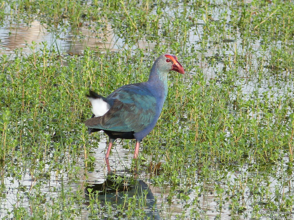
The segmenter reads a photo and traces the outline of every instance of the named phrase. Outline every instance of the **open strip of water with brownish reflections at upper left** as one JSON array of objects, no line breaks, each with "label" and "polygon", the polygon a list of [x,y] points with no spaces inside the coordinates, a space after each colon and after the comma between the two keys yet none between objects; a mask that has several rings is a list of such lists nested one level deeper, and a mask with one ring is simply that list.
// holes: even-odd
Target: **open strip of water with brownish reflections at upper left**
[{"label": "open strip of water with brownish reflections at upper left", "polygon": [[1,53],[13,54],[13,50],[20,49],[28,54],[39,50],[46,41],[49,49],[57,47],[60,53],[82,54],[86,47],[92,50],[117,51],[123,46],[122,40],[117,38],[111,26],[106,24],[106,31],[92,31],[90,26],[81,26],[77,29],[68,28],[64,32],[49,31],[46,24],[34,20],[29,25],[14,24],[0,27]]}]

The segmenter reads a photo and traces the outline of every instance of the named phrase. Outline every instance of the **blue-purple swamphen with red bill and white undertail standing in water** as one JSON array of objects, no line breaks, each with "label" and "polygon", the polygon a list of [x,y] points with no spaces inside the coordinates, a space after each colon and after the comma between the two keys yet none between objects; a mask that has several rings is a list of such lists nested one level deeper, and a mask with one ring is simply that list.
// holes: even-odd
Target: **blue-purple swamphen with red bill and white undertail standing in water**
[{"label": "blue-purple swamphen with red bill and white undertail standing in water", "polygon": [[109,136],[106,163],[117,138],[136,139],[134,158],[138,157],[140,142],[152,131],[161,113],[171,70],[185,73],[175,55],[163,54],[154,62],[147,82],[124,85],[106,98],[90,92],[93,116],[85,125],[89,133],[103,130]]}]

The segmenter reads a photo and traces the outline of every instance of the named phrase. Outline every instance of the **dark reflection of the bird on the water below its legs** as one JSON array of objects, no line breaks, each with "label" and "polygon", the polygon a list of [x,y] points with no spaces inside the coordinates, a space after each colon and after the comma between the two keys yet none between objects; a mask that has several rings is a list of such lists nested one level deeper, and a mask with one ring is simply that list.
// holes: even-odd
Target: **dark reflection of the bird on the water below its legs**
[{"label": "dark reflection of the bird on the water below its legs", "polygon": [[[107,218],[130,219],[136,214],[142,214],[144,219],[161,219],[156,207],[156,201],[149,186],[143,180],[130,175],[117,175],[109,172],[106,180],[102,183],[88,183],[84,189],[86,205],[90,199],[98,199],[100,207],[111,207],[114,211]],[[138,213],[128,212],[129,206],[136,206]],[[140,215],[141,216],[141,215]]]}]

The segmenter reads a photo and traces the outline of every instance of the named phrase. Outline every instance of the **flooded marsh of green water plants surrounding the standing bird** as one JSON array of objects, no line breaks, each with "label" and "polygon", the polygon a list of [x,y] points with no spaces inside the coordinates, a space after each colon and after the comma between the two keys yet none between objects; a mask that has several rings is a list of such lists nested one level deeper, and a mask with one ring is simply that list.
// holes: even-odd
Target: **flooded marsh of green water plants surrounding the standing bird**
[{"label": "flooded marsh of green water plants surrounding the standing bird", "polygon": [[[29,41],[35,23],[47,41]],[[85,191],[109,178],[86,93],[147,80],[165,52],[187,74],[169,75],[138,164],[117,141],[112,169],[150,184],[161,219],[293,213],[293,2],[4,0],[0,24],[0,219],[144,219],[143,192]]]}]

